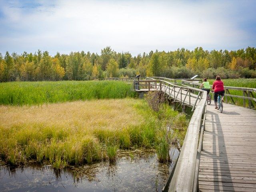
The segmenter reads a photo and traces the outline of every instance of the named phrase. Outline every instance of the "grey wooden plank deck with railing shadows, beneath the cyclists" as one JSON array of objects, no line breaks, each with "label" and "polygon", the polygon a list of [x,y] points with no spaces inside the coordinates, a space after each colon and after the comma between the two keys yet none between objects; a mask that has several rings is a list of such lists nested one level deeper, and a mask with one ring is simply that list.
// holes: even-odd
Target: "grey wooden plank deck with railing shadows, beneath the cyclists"
[{"label": "grey wooden plank deck with railing shadows, beneath the cyclists", "polygon": [[256,110],[207,106],[199,191],[256,192]]}]

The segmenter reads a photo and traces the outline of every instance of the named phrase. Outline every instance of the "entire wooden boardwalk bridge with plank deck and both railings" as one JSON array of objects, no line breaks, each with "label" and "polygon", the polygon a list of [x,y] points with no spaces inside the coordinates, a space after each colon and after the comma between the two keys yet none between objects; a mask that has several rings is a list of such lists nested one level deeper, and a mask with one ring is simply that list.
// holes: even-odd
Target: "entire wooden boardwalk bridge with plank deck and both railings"
[{"label": "entire wooden boardwalk bridge with plank deck and both railings", "polygon": [[[256,192],[256,89],[224,87],[227,96],[241,98],[244,107],[224,103],[223,112],[206,106],[206,91],[191,80],[167,78],[133,79],[138,92],[161,91],[172,102],[194,111],[175,169],[163,189],[169,192]],[[193,87],[192,87],[193,86]],[[243,96],[229,90],[240,90]],[[248,100],[248,107],[246,100]]]}]

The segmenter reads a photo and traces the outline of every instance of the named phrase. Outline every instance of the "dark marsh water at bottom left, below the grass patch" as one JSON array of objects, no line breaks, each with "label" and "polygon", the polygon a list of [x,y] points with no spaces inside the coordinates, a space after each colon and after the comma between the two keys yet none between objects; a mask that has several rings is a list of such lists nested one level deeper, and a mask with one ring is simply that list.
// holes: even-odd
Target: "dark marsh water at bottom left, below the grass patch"
[{"label": "dark marsh water at bottom left, below the grass patch", "polygon": [[11,192],[141,192],[161,191],[179,151],[172,149],[172,162],[158,163],[153,151],[119,151],[116,162],[102,161],[54,171],[52,166],[0,167],[0,191]]}]

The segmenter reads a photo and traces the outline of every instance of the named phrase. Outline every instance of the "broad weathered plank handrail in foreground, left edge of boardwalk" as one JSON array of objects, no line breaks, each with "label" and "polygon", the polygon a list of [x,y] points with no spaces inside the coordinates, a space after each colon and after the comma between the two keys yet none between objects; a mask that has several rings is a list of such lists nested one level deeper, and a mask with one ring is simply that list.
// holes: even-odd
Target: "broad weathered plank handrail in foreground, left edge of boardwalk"
[{"label": "broad weathered plank handrail in foreground, left edge of boardwalk", "polygon": [[[199,91],[199,90],[198,90]],[[194,180],[198,180],[199,164],[196,164],[198,156],[199,132],[202,127],[201,120],[205,113],[207,92],[203,92],[188,125],[186,136],[182,145],[179,160],[170,183],[169,191],[194,191]]]}]

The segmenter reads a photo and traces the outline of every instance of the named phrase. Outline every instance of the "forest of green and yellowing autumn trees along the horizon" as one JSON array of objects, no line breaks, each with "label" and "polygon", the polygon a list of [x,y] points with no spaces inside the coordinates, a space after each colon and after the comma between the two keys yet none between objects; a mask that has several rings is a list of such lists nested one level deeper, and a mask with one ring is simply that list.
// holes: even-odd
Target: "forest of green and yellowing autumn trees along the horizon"
[{"label": "forest of green and yellowing autumn trees along the horizon", "polygon": [[256,78],[256,48],[239,50],[175,51],[132,56],[129,52],[115,52],[110,46],[100,54],[70,52],[51,56],[48,51],[34,54],[23,52],[0,53],[0,82],[95,80],[106,77],[161,76],[167,78]]}]

